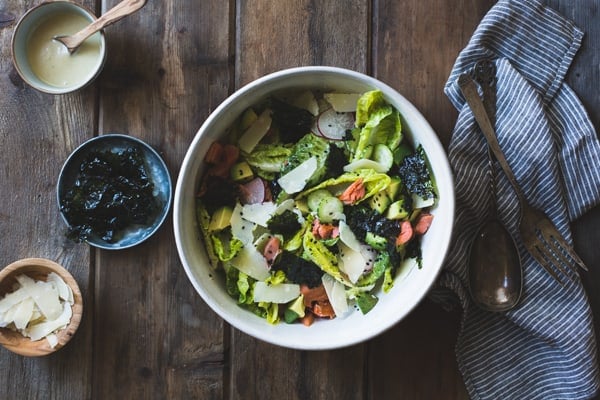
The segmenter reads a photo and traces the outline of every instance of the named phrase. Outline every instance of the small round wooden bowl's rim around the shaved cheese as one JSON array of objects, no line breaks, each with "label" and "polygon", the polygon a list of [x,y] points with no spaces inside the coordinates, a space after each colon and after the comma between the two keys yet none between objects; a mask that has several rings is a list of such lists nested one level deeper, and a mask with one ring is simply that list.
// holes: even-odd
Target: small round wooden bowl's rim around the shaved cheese
[{"label": "small round wooden bowl's rim around the shaved cheese", "polygon": [[[79,325],[81,323],[82,315],[83,315],[83,296],[81,294],[81,289],[79,288],[79,284],[77,280],[73,277],[73,275],[67,270],[64,266],[54,262],[52,260],[46,258],[39,257],[30,257],[23,258],[17,261],[10,263],[0,270],[0,282],[3,282],[5,279],[16,276],[19,273],[23,273],[28,275],[27,272],[23,272],[23,269],[27,269],[28,267],[41,267],[50,272],[54,272],[59,275],[63,281],[71,288],[73,292],[73,304],[71,305],[72,316],[69,324],[57,332],[58,343],[55,347],[50,347],[46,340],[40,339],[37,341],[31,341],[31,339],[22,336],[19,332],[11,331],[8,328],[0,328],[0,343],[4,348],[10,350],[13,353],[27,356],[27,357],[40,357],[52,354],[69,343],[71,338],[75,335],[75,332],[78,330]],[[48,275],[44,273],[44,275]],[[29,276],[29,275],[28,275]],[[4,296],[6,293],[2,293]],[[11,338],[18,338],[16,341]],[[25,341],[28,345],[21,346],[21,344]]]}]

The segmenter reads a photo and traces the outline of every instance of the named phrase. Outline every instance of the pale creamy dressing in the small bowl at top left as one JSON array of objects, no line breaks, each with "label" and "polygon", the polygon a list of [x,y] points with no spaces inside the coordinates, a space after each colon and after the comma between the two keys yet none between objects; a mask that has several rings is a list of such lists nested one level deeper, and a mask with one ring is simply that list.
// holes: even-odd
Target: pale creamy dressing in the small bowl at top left
[{"label": "pale creamy dressing in the small bowl at top left", "polygon": [[78,32],[90,21],[74,13],[56,13],[43,20],[27,41],[27,58],[33,73],[56,87],[69,87],[87,81],[102,57],[100,34],[95,33],[73,54],[52,38]]}]

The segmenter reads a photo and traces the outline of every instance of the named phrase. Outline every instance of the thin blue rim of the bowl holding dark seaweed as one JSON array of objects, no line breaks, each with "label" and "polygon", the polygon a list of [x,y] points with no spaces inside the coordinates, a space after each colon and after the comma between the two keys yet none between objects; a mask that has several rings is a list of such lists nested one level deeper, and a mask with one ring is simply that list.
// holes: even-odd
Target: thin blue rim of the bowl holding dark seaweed
[{"label": "thin blue rim of the bowl holding dark seaweed", "polygon": [[[75,162],[76,158],[78,156],[80,156],[82,153],[84,153],[85,151],[87,151],[88,148],[90,148],[93,145],[97,145],[99,142],[110,141],[110,140],[121,140],[124,142],[132,142],[134,144],[141,146],[144,151],[150,153],[156,159],[158,167],[161,169],[161,171],[164,173],[163,175],[166,177],[166,182],[163,185],[164,193],[166,194],[165,203],[164,203],[161,211],[156,215],[156,218],[154,219],[153,224],[152,224],[152,229],[146,231],[144,233],[144,235],[142,235],[140,237],[139,240],[130,242],[127,244],[120,244],[122,242],[122,239],[115,243],[112,243],[112,244],[105,242],[100,238],[98,238],[98,241],[85,240],[85,242],[87,244],[89,244],[90,246],[93,246],[93,247],[96,247],[99,249],[123,250],[123,249],[128,249],[128,248],[137,246],[137,245],[145,242],[146,240],[148,240],[151,236],[153,236],[160,229],[160,227],[163,225],[163,223],[167,219],[167,216],[171,209],[171,204],[173,202],[173,182],[172,182],[171,174],[169,172],[167,164],[165,163],[163,158],[160,156],[160,154],[148,143],[144,142],[143,140],[141,140],[139,138],[136,138],[134,136],[130,136],[127,134],[123,134],[123,133],[106,133],[106,134],[94,136],[93,138],[90,138],[90,139],[86,140],[85,142],[81,143],[79,146],[77,146],[77,148],[75,148],[75,150],[73,150],[71,152],[71,154],[69,154],[69,156],[67,157],[67,159],[65,160],[65,162],[63,163],[63,165],[60,169],[60,172],[58,175],[58,180],[56,183],[56,201],[57,201],[57,205],[58,205],[59,214],[60,214],[63,222],[67,226],[69,226],[70,225],[69,221],[67,220],[64,213],[60,210],[61,188],[63,186],[63,179],[66,176],[67,169],[69,167],[71,167],[71,164],[73,162]],[[152,175],[152,174],[150,174],[150,175]]]}]

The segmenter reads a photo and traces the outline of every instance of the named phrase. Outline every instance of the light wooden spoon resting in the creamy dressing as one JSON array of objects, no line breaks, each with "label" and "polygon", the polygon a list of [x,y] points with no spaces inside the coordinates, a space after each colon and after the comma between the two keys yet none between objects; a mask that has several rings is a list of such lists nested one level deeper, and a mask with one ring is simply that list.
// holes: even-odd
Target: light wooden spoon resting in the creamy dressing
[{"label": "light wooden spoon resting in the creamy dressing", "polygon": [[133,14],[144,7],[147,1],[148,0],[124,0],[79,32],[73,35],[55,36],[53,39],[64,44],[69,50],[69,53],[73,54],[88,37],[104,27],[117,22],[121,18]]}]

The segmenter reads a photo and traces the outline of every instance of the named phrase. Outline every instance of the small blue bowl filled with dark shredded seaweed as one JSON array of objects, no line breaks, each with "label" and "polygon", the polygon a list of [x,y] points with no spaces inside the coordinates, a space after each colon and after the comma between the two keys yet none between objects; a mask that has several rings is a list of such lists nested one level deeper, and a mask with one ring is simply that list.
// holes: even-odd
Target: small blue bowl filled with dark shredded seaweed
[{"label": "small blue bowl filled with dark shredded seaweed", "polygon": [[164,220],[171,198],[162,159],[126,135],[103,135],[67,160],[58,184],[67,237],[107,249],[138,244]]}]

